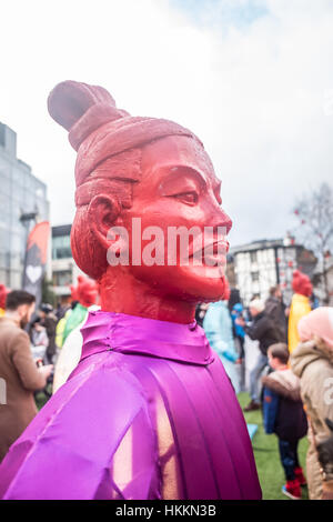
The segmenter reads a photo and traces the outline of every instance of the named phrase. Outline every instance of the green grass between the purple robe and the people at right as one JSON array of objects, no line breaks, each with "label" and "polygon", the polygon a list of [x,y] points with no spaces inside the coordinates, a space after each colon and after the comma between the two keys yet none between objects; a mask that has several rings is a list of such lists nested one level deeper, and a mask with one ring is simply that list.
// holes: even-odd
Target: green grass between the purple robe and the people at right
[{"label": "green grass between the purple robe and the people at right", "polygon": [[[238,398],[242,408],[250,402],[248,393],[239,393]],[[265,434],[261,410],[244,412],[244,416],[249,424],[258,424],[258,431],[252,439],[252,445],[263,500],[290,500],[281,492],[285,479],[280,462],[276,435]],[[299,444],[299,459],[304,472],[306,451],[307,439],[305,436]],[[306,488],[302,488],[302,499],[307,499]]]}]

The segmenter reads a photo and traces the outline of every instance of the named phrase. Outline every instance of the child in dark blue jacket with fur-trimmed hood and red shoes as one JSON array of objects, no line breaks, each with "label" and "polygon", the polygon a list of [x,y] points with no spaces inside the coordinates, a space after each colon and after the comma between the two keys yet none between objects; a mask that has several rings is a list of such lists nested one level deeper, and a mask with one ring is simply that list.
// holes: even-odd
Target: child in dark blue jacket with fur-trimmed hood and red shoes
[{"label": "child in dark blue jacket with fur-trimmed hood and red shoes", "polygon": [[299,500],[302,498],[301,485],[305,485],[306,480],[299,462],[297,445],[307,432],[300,380],[287,368],[286,344],[272,344],[268,357],[274,371],[262,378],[264,428],[268,434],[275,433],[279,439],[280,459],[286,479],[282,493]]}]

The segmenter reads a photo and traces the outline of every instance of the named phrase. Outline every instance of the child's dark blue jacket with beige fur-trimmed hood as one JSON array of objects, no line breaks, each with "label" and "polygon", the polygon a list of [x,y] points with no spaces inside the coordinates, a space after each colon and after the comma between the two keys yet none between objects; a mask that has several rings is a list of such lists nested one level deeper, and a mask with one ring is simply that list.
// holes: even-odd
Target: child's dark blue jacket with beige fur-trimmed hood
[{"label": "child's dark blue jacket with beige fur-trimmed hood", "polygon": [[296,375],[291,370],[275,371],[264,377],[262,384],[265,432],[275,433],[283,441],[305,436],[307,420]]}]

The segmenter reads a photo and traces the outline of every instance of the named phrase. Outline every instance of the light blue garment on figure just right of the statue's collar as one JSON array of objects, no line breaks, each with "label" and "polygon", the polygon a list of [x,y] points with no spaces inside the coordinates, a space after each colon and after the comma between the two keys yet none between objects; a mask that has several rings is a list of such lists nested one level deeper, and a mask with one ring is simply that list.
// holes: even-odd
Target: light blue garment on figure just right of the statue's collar
[{"label": "light blue garment on figure just right of the statue's collar", "polygon": [[239,393],[240,383],[235,368],[239,354],[234,347],[228,301],[218,301],[210,304],[203,320],[203,329],[211,348],[220,357],[235,393]]}]

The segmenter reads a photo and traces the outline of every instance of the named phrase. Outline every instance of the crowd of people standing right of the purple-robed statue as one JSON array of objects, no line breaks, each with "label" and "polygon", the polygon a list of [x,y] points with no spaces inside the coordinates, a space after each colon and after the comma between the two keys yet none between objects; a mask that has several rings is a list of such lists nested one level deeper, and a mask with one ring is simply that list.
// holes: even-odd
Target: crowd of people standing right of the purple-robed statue
[{"label": "crowd of people standing right of the purple-robed statue", "polygon": [[[231,291],[224,301],[200,304],[196,320],[235,392],[249,392],[244,411],[261,410],[265,432],[278,436],[286,481],[282,492],[301,499],[301,488],[307,485],[310,499],[332,499],[333,308],[319,307],[310,279],[299,271],[293,290],[289,307],[275,285],[266,301],[253,295],[246,308],[239,292]],[[299,441],[306,434],[307,479],[297,455]]]}]

